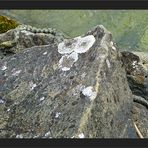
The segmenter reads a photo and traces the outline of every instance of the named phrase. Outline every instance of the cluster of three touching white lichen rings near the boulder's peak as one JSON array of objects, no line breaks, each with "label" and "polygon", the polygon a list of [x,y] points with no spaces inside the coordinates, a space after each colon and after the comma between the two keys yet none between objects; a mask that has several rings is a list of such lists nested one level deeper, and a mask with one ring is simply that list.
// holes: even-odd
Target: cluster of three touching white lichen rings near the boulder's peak
[{"label": "cluster of three touching white lichen rings near the boulder's peak", "polygon": [[76,37],[67,39],[58,45],[58,52],[64,54],[59,60],[59,68],[63,71],[68,71],[78,60],[78,53],[87,52],[95,43],[95,37],[88,35],[85,37]]}]

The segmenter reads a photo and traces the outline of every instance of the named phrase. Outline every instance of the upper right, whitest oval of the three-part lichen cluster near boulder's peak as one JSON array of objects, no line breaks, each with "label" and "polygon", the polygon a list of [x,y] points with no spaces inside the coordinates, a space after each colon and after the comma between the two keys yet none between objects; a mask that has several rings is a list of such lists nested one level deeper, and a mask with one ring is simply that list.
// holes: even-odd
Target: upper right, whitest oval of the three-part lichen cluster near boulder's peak
[{"label": "upper right, whitest oval of the three-part lichen cluster near boulder's peak", "polygon": [[93,46],[95,41],[96,39],[93,35],[88,35],[82,38],[79,37],[74,51],[76,53],[85,53]]}]

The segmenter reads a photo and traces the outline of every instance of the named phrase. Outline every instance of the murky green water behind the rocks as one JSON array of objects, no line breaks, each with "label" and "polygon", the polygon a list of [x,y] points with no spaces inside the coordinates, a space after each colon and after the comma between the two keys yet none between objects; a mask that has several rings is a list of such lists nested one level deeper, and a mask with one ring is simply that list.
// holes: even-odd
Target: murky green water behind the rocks
[{"label": "murky green water behind the rocks", "polygon": [[[1,11],[2,12],[2,11]],[[148,10],[3,10],[36,27],[54,27],[71,37],[102,24],[122,50],[148,51]]]}]

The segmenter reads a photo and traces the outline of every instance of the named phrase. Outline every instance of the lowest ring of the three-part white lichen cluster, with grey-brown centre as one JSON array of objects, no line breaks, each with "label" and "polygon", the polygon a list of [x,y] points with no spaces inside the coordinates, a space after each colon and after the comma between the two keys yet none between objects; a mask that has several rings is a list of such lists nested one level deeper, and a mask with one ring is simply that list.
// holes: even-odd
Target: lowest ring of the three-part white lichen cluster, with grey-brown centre
[{"label": "lowest ring of the three-part white lichen cluster, with grey-brown centre", "polygon": [[59,60],[59,68],[61,68],[63,71],[68,71],[77,60],[78,54],[75,52],[69,55],[63,55],[62,58]]}]

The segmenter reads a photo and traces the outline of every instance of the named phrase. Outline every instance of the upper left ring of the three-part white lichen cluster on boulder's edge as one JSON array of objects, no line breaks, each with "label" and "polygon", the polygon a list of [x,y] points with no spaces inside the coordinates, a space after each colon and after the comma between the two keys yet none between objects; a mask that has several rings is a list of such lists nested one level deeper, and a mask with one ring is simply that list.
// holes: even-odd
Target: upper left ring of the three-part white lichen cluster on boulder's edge
[{"label": "upper left ring of the three-part white lichen cluster on boulder's edge", "polygon": [[66,39],[58,45],[58,52],[60,54],[67,54],[74,51],[77,39]]}]

